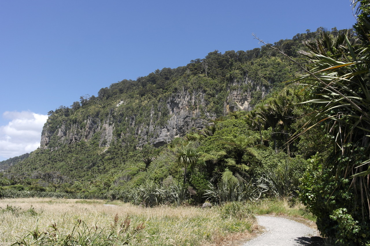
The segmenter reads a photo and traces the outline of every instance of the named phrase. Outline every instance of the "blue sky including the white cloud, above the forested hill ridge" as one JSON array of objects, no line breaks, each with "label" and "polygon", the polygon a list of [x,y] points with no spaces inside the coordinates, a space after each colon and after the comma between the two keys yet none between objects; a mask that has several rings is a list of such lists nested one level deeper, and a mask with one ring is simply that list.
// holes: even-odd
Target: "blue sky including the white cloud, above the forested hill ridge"
[{"label": "blue sky including the white cloud, above the forested hill ridge", "polygon": [[260,47],[252,33],[273,43],[355,21],[350,0],[0,1],[0,161],[37,147],[48,111],[111,83]]}]

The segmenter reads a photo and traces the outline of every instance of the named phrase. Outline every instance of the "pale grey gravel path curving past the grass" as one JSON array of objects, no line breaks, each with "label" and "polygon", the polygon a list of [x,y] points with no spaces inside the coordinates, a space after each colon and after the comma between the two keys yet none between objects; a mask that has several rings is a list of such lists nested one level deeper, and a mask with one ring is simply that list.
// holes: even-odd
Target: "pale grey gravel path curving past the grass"
[{"label": "pale grey gravel path curving past the grass", "polygon": [[308,246],[311,237],[317,236],[317,232],[299,222],[290,219],[256,216],[258,225],[265,227],[262,235],[242,246]]}]

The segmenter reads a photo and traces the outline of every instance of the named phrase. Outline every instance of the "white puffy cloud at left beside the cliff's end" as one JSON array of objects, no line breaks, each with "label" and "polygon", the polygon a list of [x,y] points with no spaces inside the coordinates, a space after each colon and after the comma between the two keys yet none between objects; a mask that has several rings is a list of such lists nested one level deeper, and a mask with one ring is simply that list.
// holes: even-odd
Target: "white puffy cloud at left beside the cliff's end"
[{"label": "white puffy cloud at left beside the cliff's end", "polygon": [[29,111],[4,112],[9,119],[6,126],[0,126],[0,160],[30,153],[40,147],[41,131],[48,118]]}]

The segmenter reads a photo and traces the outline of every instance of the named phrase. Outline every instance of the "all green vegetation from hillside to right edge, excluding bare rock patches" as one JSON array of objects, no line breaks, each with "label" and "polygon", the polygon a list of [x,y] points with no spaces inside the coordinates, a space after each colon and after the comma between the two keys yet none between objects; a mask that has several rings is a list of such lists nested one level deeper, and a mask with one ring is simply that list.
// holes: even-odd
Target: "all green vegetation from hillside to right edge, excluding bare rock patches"
[{"label": "all green vegetation from hillside to right edge, excluding bare rock patches", "polygon": [[[299,196],[324,236],[370,245],[369,4],[353,2],[355,31],[318,28],[250,51],[214,51],[62,106],[50,112],[47,147],[1,173],[1,185],[143,206]],[[250,93],[249,111],[225,114],[233,88]],[[209,124],[159,148],[145,144],[137,126],[153,118],[165,126],[166,100],[179,90],[194,95],[189,106]],[[58,139],[62,125],[78,132],[87,121],[114,124],[113,140],[98,131],[87,141]]]}]

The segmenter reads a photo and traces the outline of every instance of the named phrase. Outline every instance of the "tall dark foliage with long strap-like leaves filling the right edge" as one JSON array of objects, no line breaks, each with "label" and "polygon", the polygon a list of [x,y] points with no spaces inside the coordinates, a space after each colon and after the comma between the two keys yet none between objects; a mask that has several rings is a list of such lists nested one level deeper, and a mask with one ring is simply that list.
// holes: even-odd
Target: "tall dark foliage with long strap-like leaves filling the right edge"
[{"label": "tall dark foliage with long strap-like leaves filling the right edge", "polygon": [[301,198],[324,235],[342,245],[369,245],[370,1],[353,3],[358,37],[323,30],[305,42],[311,69],[294,80],[313,88],[304,102],[314,109],[305,131],[321,124],[331,136],[331,151],[303,178]]}]

